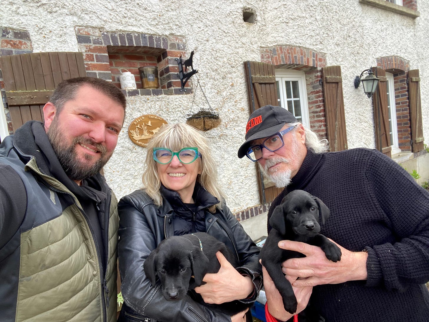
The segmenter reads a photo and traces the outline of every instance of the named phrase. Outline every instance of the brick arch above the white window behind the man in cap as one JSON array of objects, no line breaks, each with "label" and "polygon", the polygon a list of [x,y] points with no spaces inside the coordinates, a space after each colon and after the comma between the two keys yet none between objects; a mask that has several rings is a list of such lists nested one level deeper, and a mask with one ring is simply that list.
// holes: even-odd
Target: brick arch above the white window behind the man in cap
[{"label": "brick arch above the white window behind the man in cap", "polygon": [[278,67],[286,64],[296,65],[298,68],[293,69],[300,70],[303,70],[305,67],[326,67],[326,54],[305,47],[287,45],[262,47],[260,54],[263,63],[273,64]]}]

